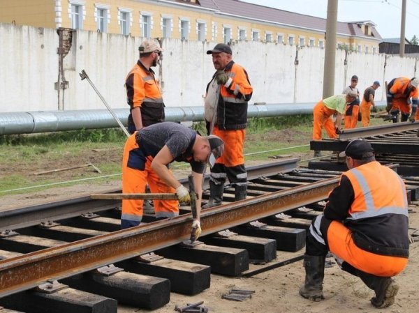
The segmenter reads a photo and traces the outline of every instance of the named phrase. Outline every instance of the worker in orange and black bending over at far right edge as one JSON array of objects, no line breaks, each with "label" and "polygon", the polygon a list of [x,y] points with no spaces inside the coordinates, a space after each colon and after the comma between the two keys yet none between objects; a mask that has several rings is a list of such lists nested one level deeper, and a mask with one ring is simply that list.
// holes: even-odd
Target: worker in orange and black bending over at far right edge
[{"label": "worker in orange and black bending over at far right edge", "polygon": [[387,112],[397,121],[399,112],[400,121],[419,120],[419,79],[416,77],[399,77],[392,79],[387,86]]}]

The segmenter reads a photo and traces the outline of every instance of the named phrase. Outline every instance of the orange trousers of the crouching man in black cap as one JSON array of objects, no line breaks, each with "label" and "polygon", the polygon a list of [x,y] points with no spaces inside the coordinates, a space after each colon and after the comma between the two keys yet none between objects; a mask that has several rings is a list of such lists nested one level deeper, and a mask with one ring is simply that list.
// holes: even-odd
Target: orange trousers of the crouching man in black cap
[{"label": "orange trousers of the crouching man in black cap", "polygon": [[358,270],[376,276],[395,276],[404,270],[408,262],[404,257],[374,254],[360,249],[353,242],[351,230],[337,221],[333,221],[328,228],[328,245],[330,252],[339,259]]}]

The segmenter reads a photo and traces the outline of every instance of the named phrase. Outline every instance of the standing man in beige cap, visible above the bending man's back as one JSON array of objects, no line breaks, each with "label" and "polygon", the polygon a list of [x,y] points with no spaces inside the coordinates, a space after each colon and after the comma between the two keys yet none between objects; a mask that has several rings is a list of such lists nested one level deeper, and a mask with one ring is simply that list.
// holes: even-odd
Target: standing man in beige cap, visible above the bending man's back
[{"label": "standing man in beige cap, visible above the bending man's back", "polygon": [[144,40],[140,47],[140,59],[128,73],[125,80],[126,101],[130,107],[128,131],[164,121],[164,103],[159,81],[152,70],[160,60],[161,49],[158,42]]}]

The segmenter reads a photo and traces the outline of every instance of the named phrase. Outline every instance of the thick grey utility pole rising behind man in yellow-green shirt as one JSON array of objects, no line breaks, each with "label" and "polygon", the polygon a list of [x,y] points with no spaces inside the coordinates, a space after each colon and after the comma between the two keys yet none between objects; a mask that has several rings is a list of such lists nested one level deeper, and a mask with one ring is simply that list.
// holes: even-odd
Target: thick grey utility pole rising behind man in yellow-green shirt
[{"label": "thick grey utility pole rising behind man in yellow-green shirt", "polygon": [[337,31],[337,0],[328,1],[326,20],[325,66],[323,72],[323,99],[335,93],[335,59]]}]

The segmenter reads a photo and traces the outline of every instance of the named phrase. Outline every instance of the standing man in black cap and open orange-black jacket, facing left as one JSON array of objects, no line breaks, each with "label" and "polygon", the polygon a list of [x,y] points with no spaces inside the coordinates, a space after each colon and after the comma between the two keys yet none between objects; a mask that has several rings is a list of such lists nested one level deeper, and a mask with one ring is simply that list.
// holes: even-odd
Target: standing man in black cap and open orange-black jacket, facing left
[{"label": "standing man in black cap and open orange-black jacket, facing left", "polygon": [[[229,45],[217,44],[208,50],[216,72],[207,85],[205,121],[207,130],[226,143],[226,150],[211,169],[210,201],[203,208],[219,206],[226,178],[235,188],[235,201],[246,199],[247,171],[243,145],[247,127],[247,102],[253,93],[246,70],[233,61]],[[214,129],[211,130],[214,120]]]}]

